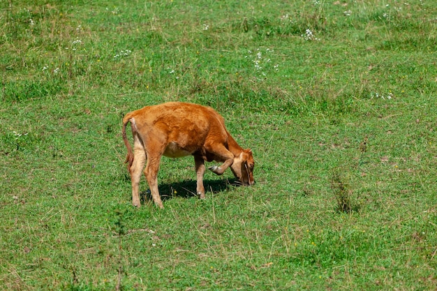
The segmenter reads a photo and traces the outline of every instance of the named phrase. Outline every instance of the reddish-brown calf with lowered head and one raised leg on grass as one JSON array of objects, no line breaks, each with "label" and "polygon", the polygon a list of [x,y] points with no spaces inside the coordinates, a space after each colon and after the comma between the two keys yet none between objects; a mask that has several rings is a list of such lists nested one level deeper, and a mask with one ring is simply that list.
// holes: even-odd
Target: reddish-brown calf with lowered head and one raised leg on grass
[{"label": "reddish-brown calf with lowered head and one raised leg on grass", "polygon": [[[131,122],[133,150],[126,137],[126,125]],[[191,103],[169,102],[142,107],[123,118],[124,144],[128,150],[126,163],[131,174],[132,203],[140,207],[138,186],[147,161],[145,176],[155,204],[163,208],[158,192],[157,173],[161,156],[180,158],[194,156],[197,193],[205,198],[203,174],[205,161],[218,161],[209,167],[221,175],[230,167],[242,184],[252,185],[253,160],[250,149],[242,149],[225,128],[223,117],[211,107]]]}]

